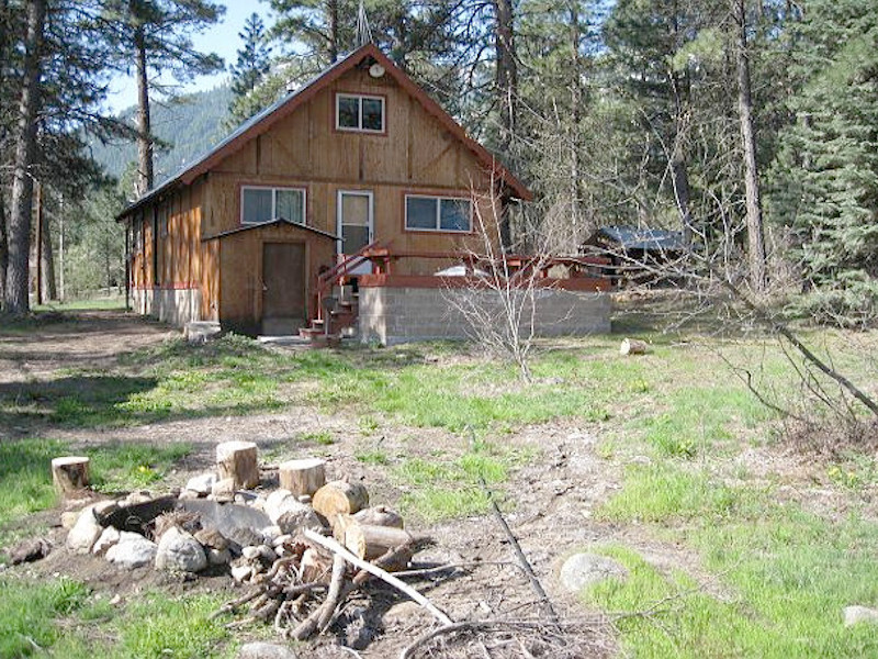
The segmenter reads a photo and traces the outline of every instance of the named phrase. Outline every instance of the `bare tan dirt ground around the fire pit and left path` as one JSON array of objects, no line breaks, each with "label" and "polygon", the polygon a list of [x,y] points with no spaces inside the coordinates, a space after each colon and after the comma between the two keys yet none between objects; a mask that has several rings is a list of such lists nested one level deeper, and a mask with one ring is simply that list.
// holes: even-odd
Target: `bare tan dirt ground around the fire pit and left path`
[{"label": "bare tan dirt ground around the fire pit and left path", "polygon": [[[119,371],[123,368],[117,361],[120,355],[156,345],[171,335],[173,333],[168,327],[140,319],[91,313],[69,322],[4,336],[0,338],[0,388],[9,390],[22,382],[48,380],[76,369]],[[413,456],[413,451],[417,454],[417,447],[424,447],[426,457],[429,455],[427,447],[457,446],[461,442],[459,436],[441,429],[410,428],[386,418],[379,422],[381,447],[390,455]],[[290,437],[297,433],[323,431],[338,439],[331,445],[315,447],[315,453],[327,459],[330,476],[362,478],[369,485],[373,503],[393,505],[398,500],[401,490],[389,479],[386,468],[354,459],[354,447],[375,438],[365,437],[358,418],[345,413],[329,414],[315,407],[290,406],[275,414],[201,417],[99,429],[58,428],[38,418],[15,424],[0,422],[0,438],[40,434],[70,442],[74,446],[144,440],[190,444],[193,453],[162,483],[162,489],[182,485],[190,476],[209,469],[218,440],[254,440],[270,462],[299,457],[279,453],[279,447]],[[529,446],[536,456],[527,467],[514,472],[511,481],[499,493],[515,500],[514,511],[508,515],[509,525],[559,610],[565,616],[585,619],[587,612],[562,592],[556,573],[561,561],[575,548],[611,540],[617,535],[617,529],[594,524],[589,517],[590,511],[619,487],[619,474],[595,454],[596,437],[592,432],[573,423],[527,427],[504,435],[503,442]],[[57,524],[58,511],[42,513],[35,520]],[[452,619],[502,616],[518,619],[537,613],[536,595],[520,569],[513,565],[511,547],[493,518],[459,520],[418,527],[418,530],[429,532],[437,544],[419,554],[417,560],[462,566],[451,577],[436,577],[415,584]],[[59,549],[38,563],[15,570],[45,578],[68,574],[85,581],[106,597],[117,594],[123,601],[151,588],[170,592],[207,590],[227,594],[229,599],[241,592],[241,587],[224,573],[181,581],[150,568],[130,572],[102,559],[68,554],[63,548],[64,532],[57,526],[50,529],[50,537]],[[640,544],[648,544],[648,540],[641,539]],[[673,548],[667,549],[673,551]],[[656,545],[656,551],[662,550]],[[364,626],[367,635],[374,638],[362,644],[362,657],[395,655],[434,625],[417,605],[387,588],[371,589],[370,599],[372,602],[368,607],[363,599],[353,599],[345,612],[353,617],[364,613],[368,616],[361,627]],[[590,638],[594,656],[612,654],[610,626],[598,616],[592,616],[587,622],[588,626],[579,633],[585,635],[583,638]],[[334,640],[320,643],[331,646]]]}]

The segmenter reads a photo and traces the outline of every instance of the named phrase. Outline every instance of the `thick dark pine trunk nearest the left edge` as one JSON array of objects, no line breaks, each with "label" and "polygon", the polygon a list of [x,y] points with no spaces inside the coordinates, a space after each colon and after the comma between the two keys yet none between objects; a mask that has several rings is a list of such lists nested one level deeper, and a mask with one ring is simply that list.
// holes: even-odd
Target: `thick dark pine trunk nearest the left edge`
[{"label": "thick dark pine trunk nearest the left edge", "polygon": [[24,77],[15,127],[15,156],[12,165],[12,208],[9,217],[9,264],[3,291],[5,310],[27,313],[27,261],[31,250],[31,212],[34,181],[31,167],[36,159],[36,115],[40,109],[40,69],[45,0],[30,0],[26,7],[27,33],[24,41]]}]

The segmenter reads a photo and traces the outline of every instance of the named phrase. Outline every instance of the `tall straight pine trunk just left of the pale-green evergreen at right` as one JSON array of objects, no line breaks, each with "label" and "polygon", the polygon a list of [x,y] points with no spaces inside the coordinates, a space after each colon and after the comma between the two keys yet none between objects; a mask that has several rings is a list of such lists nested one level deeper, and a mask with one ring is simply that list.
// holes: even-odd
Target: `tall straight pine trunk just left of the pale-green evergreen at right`
[{"label": "tall straight pine trunk just left of the pale-green evergreen at right", "polygon": [[756,134],[753,127],[753,96],[750,80],[750,56],[747,53],[747,23],[744,0],[733,0],[738,27],[738,112],[741,119],[741,144],[744,150],[744,189],[747,208],[747,261],[750,284],[754,291],[766,286],[765,235],[763,233],[762,201],[759,199],[759,172],[756,165]]}]

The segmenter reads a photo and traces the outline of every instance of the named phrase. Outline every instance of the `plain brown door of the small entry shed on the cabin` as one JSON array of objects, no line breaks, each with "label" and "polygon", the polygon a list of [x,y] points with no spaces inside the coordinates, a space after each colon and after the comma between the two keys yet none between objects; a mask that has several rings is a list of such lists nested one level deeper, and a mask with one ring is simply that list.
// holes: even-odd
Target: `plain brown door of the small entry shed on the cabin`
[{"label": "plain brown door of the small entry shed on the cabin", "polygon": [[262,334],[296,334],[305,326],[305,245],[262,244]]}]

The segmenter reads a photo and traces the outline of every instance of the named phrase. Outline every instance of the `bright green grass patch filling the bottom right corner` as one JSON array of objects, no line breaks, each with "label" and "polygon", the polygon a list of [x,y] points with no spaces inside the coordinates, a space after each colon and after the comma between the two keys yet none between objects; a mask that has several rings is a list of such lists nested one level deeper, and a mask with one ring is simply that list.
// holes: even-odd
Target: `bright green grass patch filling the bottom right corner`
[{"label": "bright green grass patch filling the bottom right corner", "polygon": [[[866,657],[875,630],[845,629],[842,608],[878,601],[878,526],[851,516],[830,522],[768,493],[734,490],[705,472],[655,466],[627,472],[600,511],[616,522],[651,523],[669,541],[694,547],[720,574],[730,601],[694,589],[683,572],[662,576],[633,552],[608,551],[628,567],[624,584],[588,593],[627,614],[624,644],[635,657]],[[684,596],[678,596],[685,593]]]}]

